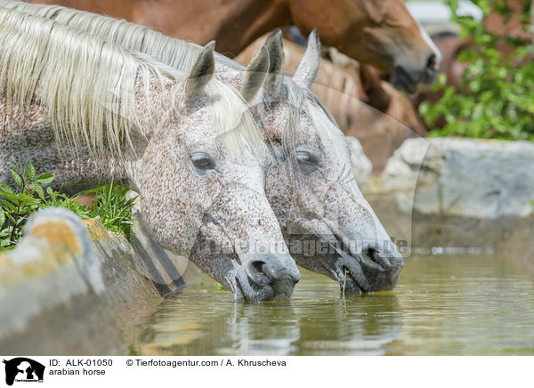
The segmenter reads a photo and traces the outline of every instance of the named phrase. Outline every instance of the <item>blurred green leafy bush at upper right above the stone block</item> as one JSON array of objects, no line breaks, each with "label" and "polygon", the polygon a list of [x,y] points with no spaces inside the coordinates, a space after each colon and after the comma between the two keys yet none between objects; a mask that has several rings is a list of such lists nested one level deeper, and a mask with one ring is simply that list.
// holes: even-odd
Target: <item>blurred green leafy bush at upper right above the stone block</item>
[{"label": "blurred green leafy bush at upper right above the stone block", "polygon": [[[439,117],[446,125],[431,132],[434,136],[459,135],[465,137],[534,141],[534,61],[530,41],[517,36],[491,33],[480,21],[457,15],[458,0],[448,0],[452,20],[461,28],[461,37],[470,42],[458,61],[467,63],[462,78],[462,92],[446,85],[441,74],[433,90],[441,90],[440,101],[419,106],[419,113],[429,127]],[[492,9],[505,20],[512,10],[506,0],[474,0],[484,15]],[[530,2],[525,2],[522,27],[530,30]],[[502,53],[498,44],[506,44],[510,53]]]}]

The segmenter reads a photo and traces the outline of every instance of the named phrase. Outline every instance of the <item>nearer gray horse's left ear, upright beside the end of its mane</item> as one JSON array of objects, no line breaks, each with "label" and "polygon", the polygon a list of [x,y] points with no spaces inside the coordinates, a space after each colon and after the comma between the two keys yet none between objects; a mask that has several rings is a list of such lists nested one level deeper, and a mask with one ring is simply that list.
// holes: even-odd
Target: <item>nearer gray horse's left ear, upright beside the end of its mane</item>
[{"label": "nearer gray horse's left ear, upright beside the end of its mane", "polygon": [[211,41],[198,54],[197,61],[193,65],[185,84],[186,101],[196,100],[207,83],[214,77],[214,47],[215,42]]}]

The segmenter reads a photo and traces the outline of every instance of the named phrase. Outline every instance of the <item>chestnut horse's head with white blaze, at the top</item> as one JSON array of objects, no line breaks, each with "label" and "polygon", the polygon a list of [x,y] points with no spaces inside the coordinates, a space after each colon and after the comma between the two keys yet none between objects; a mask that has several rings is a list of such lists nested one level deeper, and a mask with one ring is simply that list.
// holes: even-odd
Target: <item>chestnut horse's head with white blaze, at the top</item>
[{"label": "chestnut horse's head with white blaze, at the top", "polygon": [[318,28],[324,44],[388,71],[402,91],[432,82],[441,67],[441,53],[402,0],[291,0],[290,10],[303,33]]}]

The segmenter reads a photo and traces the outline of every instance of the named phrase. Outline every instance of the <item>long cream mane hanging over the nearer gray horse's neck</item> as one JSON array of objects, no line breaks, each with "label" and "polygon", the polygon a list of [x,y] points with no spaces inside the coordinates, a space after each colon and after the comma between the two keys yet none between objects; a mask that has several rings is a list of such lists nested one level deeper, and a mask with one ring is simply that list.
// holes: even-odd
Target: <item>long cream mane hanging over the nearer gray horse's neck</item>
[{"label": "long cream mane hanging over the nearer gray horse's neck", "polygon": [[[48,110],[58,140],[93,150],[120,150],[137,121],[136,83],[163,83],[179,73],[149,57],[60,23],[0,10],[0,82],[7,107]],[[148,87],[144,88],[150,102]]]}]

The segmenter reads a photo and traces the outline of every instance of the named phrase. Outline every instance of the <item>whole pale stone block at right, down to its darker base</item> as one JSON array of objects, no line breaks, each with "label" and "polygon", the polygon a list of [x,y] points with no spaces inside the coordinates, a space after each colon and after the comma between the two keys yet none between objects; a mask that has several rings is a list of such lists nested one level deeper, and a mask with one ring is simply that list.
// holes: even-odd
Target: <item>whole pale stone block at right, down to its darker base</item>
[{"label": "whole pale stone block at right, down to its darker base", "polygon": [[534,218],[534,144],[409,139],[365,190],[384,226],[414,247],[498,247]]}]

